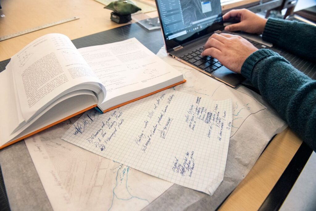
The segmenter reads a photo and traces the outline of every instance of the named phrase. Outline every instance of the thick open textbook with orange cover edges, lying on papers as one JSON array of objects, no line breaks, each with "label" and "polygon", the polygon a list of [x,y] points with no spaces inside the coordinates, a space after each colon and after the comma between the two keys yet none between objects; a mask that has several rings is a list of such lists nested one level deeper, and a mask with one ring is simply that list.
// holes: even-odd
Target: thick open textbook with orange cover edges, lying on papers
[{"label": "thick open textbook with orange cover edges, lying on papers", "polygon": [[44,35],[0,73],[0,149],[96,107],[106,112],[185,82],[135,38],[76,49]]}]

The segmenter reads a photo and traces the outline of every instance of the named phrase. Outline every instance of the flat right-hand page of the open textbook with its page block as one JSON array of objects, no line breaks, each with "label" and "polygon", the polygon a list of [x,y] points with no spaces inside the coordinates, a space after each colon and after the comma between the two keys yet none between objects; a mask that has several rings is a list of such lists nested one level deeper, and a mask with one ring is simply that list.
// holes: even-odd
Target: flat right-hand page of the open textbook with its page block
[{"label": "flat right-hand page of the open textbook with its page block", "polygon": [[183,81],[179,71],[136,38],[78,51],[106,87],[103,110]]}]

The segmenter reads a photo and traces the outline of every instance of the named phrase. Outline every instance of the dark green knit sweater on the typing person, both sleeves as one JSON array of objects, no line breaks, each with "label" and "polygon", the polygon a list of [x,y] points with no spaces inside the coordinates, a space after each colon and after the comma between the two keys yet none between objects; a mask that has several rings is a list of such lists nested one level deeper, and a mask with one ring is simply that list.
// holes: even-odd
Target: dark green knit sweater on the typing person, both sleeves
[{"label": "dark green knit sweater on the typing person, both sleeves", "polygon": [[[315,34],[316,27],[312,25],[269,18],[262,38],[316,62]],[[289,127],[316,151],[316,80],[268,49],[252,53],[242,65],[241,74],[251,80]]]}]

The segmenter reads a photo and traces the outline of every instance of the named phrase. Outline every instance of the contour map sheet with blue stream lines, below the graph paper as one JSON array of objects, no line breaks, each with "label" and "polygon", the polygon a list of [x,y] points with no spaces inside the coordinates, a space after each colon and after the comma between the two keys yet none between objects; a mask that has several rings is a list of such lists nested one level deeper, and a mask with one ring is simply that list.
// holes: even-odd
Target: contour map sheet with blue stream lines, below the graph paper
[{"label": "contour map sheet with blue stream lines, below the graph paper", "polygon": [[173,185],[61,140],[76,120],[25,140],[54,210],[141,210]]}]

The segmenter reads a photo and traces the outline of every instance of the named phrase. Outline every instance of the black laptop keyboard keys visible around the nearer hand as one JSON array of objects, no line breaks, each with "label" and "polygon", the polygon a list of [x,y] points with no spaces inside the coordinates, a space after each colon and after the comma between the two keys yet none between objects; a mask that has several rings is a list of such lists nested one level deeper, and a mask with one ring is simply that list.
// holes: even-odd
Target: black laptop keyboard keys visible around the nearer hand
[{"label": "black laptop keyboard keys visible around the nearer hand", "polygon": [[[249,39],[246,40],[248,40],[250,43],[252,43],[252,45],[257,47],[258,49],[266,48],[266,46],[262,45],[261,43]],[[211,56],[202,56],[201,53],[203,51],[203,46],[198,47],[194,51],[186,53],[183,56],[180,56],[180,58],[209,73],[223,66],[217,59]]]}]

